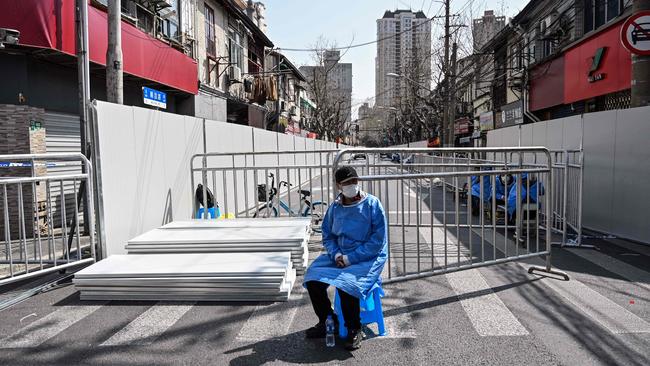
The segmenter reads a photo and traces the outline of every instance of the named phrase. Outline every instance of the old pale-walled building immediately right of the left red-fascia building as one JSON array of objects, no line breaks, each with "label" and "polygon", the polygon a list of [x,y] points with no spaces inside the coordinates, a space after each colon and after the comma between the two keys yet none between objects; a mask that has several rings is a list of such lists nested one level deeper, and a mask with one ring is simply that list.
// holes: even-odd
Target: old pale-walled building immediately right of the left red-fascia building
[{"label": "old pale-walled building immediately right of the left red-fascia building", "polygon": [[260,114],[266,114],[266,100],[254,102],[252,84],[260,78],[268,82],[265,49],[273,43],[246,15],[246,2],[196,4],[198,93],[190,114],[263,128],[265,117]]}]

